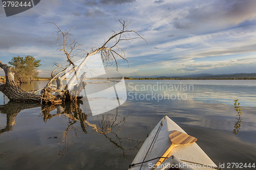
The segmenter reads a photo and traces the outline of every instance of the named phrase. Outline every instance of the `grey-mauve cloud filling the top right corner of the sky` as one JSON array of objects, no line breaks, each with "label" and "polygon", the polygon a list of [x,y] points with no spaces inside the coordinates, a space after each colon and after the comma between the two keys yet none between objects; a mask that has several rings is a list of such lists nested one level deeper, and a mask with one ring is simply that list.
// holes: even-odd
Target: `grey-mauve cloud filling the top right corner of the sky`
[{"label": "grey-mauve cloud filling the top right corner of the sky", "polygon": [[190,6],[187,15],[175,21],[175,28],[190,31],[216,30],[256,19],[256,2],[253,0],[201,2]]}]

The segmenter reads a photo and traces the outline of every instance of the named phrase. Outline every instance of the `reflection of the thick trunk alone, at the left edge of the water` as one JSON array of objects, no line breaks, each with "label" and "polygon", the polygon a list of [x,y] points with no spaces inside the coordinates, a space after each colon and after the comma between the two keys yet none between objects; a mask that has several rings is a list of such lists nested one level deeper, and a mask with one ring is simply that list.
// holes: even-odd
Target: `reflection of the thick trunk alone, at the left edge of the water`
[{"label": "reflection of the thick trunk alone, at the left edge of the water", "polygon": [[13,130],[13,125],[15,125],[15,117],[17,114],[24,110],[24,109],[30,109],[34,107],[40,106],[39,104],[21,104],[21,103],[14,103],[14,102],[8,102],[6,105],[0,106],[0,112],[2,114],[6,114],[6,127],[3,129],[0,129],[0,134],[8,131]]}]

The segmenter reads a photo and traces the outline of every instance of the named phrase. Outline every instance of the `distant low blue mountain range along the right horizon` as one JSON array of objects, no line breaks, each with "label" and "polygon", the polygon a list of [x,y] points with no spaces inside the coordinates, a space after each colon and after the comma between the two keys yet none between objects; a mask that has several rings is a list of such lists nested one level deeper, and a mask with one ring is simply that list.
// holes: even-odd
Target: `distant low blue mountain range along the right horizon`
[{"label": "distant low blue mountain range along the right horizon", "polygon": [[131,78],[172,78],[172,79],[177,79],[177,78],[255,78],[256,73],[236,73],[236,74],[223,74],[223,75],[212,75],[212,74],[196,74],[196,75],[185,75],[185,76],[148,76],[148,77],[131,77]]}]

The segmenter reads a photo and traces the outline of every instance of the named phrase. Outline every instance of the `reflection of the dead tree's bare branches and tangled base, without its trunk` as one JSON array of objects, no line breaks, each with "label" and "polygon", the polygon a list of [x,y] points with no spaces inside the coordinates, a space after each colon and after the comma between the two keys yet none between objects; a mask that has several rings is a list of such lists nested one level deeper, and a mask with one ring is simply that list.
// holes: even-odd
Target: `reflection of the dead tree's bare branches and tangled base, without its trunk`
[{"label": "reflection of the dead tree's bare branches and tangled base, without its trunk", "polygon": [[[49,107],[50,109],[44,109],[45,111],[50,111],[50,110],[54,110],[51,106],[46,106]],[[56,105],[54,105],[53,107],[56,108]],[[68,121],[68,128],[65,130],[64,135],[62,136],[62,142],[64,142],[65,147],[62,151],[60,151],[61,153],[68,148],[68,143],[67,143],[67,137],[69,137],[69,139],[72,141],[72,139],[69,136],[69,131],[71,130],[71,128],[74,130],[75,136],[76,135],[76,128],[73,126],[75,123],[77,123],[78,121],[80,122],[80,126],[82,128],[82,131],[84,133],[87,133],[86,130],[86,126],[90,127],[92,129],[93,132],[96,132],[98,134],[103,134],[113,145],[115,148],[119,148],[123,151],[123,155],[125,155],[125,151],[129,151],[129,150],[134,150],[134,149],[138,149],[139,144],[142,141],[137,141],[137,140],[133,140],[131,138],[126,138],[126,137],[119,137],[120,135],[118,134],[121,130],[121,128],[124,126],[125,121],[126,121],[126,116],[122,117],[118,115],[118,110],[116,109],[116,114],[102,114],[100,115],[101,118],[98,121],[97,124],[92,124],[90,123],[90,121],[88,120],[88,115],[82,113],[81,109],[79,108],[79,105],[76,105],[74,103],[70,103],[69,105],[61,105],[62,110],[61,112],[57,112],[56,114],[50,114],[49,112],[46,113],[45,111],[42,111],[42,113],[44,114],[44,121],[46,122],[46,118],[52,118],[56,115],[60,115],[60,114],[65,114],[66,117],[69,118]],[[43,110],[43,109],[42,109]],[[46,116],[47,115],[47,116]],[[134,145],[133,148],[126,148],[124,147],[124,145]]]}]

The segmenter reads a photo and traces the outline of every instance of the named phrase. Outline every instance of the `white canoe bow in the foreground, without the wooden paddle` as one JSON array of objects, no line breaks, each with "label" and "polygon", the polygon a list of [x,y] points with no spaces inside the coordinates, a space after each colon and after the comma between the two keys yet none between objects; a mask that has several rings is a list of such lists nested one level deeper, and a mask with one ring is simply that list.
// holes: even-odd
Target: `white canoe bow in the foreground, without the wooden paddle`
[{"label": "white canoe bow in the foreground, without the wooden paddle", "polygon": [[[183,129],[181,129],[181,127],[173,122],[172,119],[170,119],[168,116],[164,116],[162,120],[157,124],[157,126],[152,130],[150,135],[146,138],[132,164],[162,156],[164,152],[170,147],[171,142],[168,136],[173,130],[186,133]],[[172,153],[170,153],[169,156],[172,155],[174,156],[174,159],[169,157],[162,163],[160,167],[155,169],[169,169],[170,167],[174,167],[172,164],[176,164],[176,167],[179,166],[180,169],[214,169],[212,167],[216,166],[215,163],[204,153],[204,151],[199,147],[197,143],[179,145],[172,150]],[[141,164],[137,164],[129,169],[153,169],[157,160],[158,159],[148,161],[143,163],[142,166]],[[199,164],[196,165],[195,163]]]}]

